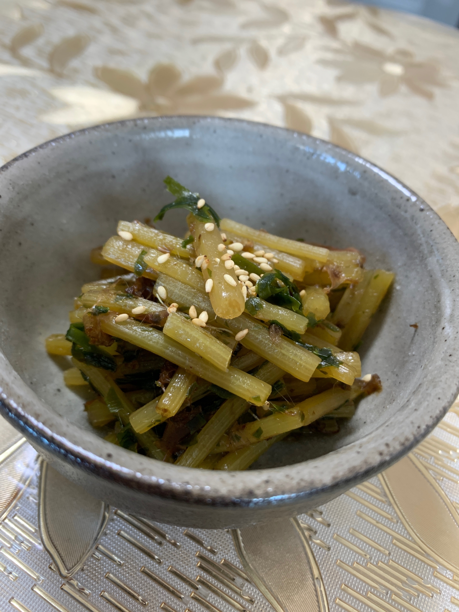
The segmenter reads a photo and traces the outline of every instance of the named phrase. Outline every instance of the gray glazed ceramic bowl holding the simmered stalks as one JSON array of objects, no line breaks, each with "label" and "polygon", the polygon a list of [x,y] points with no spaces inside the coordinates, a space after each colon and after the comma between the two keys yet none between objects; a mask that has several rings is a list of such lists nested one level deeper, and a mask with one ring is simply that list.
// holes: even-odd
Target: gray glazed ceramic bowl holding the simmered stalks
[{"label": "gray glazed ceramic bowl holding the simmered stalks", "polygon": [[[43,348],[64,332],[89,249],[123,218],[153,217],[171,174],[222,216],[281,236],[354,247],[395,271],[361,348],[381,394],[335,436],[275,445],[254,469],[159,463],[113,446]],[[40,455],[99,498],[165,523],[242,527],[335,498],[405,455],[458,392],[459,245],[397,179],[332,144],[268,125],[167,117],[102,125],[45,143],[0,170],[1,414]],[[184,214],[162,228],[181,234]],[[418,323],[419,329],[409,325]]]}]

